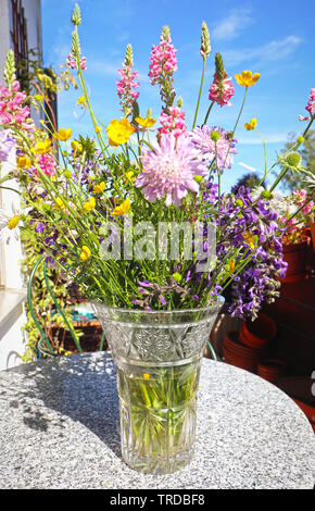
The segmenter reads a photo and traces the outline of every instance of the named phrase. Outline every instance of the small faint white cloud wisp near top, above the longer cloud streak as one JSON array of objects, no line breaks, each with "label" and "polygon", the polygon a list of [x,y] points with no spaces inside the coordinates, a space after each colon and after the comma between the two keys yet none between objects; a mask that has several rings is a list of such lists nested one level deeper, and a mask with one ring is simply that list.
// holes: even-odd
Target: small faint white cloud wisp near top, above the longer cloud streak
[{"label": "small faint white cloud wisp near top, above the longer cloud streak", "polygon": [[230,40],[238,37],[244,28],[255,23],[252,10],[248,8],[232,10],[224,20],[218,22],[211,37],[215,40]]}]

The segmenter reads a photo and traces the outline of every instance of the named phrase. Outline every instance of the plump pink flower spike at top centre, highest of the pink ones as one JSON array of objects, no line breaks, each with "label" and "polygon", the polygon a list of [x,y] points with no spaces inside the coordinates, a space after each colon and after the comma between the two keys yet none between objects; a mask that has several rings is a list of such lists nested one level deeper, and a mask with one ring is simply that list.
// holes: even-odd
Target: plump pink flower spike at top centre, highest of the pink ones
[{"label": "plump pink flower spike at top centre, highest of the pink ones", "polygon": [[153,45],[149,66],[151,84],[160,84],[161,78],[172,75],[176,70],[176,50],[171,42],[171,37],[168,40],[162,39],[159,46]]}]

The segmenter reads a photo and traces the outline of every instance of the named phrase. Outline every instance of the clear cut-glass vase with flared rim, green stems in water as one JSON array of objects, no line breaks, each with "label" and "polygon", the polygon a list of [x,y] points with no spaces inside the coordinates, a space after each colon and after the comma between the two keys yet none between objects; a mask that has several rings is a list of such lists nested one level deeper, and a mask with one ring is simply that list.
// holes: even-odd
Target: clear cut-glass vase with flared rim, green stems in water
[{"label": "clear cut-glass vase with flared rim, green stems in water", "polygon": [[122,457],[133,469],[165,474],[190,462],[201,361],[223,303],[146,312],[92,302],[116,365]]}]

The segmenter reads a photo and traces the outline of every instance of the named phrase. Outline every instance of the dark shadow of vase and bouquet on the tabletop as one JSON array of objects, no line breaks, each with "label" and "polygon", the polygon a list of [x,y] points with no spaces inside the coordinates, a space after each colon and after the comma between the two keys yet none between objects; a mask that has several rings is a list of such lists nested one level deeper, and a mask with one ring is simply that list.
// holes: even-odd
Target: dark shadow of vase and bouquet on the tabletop
[{"label": "dark shadow of vase and bouquet on the tabletop", "polygon": [[[0,398],[9,399],[10,407],[20,409],[27,427],[48,433],[49,427],[58,427],[60,435],[65,436],[71,434],[72,424],[65,416],[71,417],[122,458],[116,372],[111,354],[84,353],[43,360],[8,373],[11,385],[2,386]],[[14,373],[24,376],[22,382],[16,379],[15,389]],[[58,414],[50,415],[49,410]]]}]

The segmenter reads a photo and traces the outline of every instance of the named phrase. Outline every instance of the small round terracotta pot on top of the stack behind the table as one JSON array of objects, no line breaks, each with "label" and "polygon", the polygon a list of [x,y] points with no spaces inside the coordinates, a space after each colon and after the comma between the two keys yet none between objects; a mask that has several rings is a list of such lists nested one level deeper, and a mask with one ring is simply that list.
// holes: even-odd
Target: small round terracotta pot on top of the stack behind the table
[{"label": "small round terracotta pot on top of the stack behind the table", "polygon": [[240,331],[240,341],[251,348],[265,348],[276,336],[276,323],[267,314],[260,312],[255,321],[244,321]]}]

